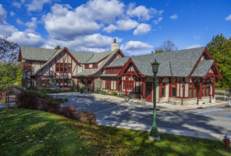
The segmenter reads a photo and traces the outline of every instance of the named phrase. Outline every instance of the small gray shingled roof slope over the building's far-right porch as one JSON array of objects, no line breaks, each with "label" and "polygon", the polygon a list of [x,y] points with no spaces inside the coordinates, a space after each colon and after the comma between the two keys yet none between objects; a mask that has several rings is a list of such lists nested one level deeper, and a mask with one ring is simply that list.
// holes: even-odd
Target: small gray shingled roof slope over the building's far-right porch
[{"label": "small gray shingled roof slope over the building's far-right porch", "polygon": [[208,73],[213,62],[214,62],[214,60],[200,61],[199,64],[197,65],[195,71],[193,72],[192,76],[193,77],[204,77]]}]

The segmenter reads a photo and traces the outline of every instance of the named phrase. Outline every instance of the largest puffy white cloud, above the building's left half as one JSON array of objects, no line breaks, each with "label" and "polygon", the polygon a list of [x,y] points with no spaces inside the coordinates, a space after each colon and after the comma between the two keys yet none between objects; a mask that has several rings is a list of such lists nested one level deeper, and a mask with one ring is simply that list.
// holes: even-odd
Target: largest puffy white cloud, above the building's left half
[{"label": "largest puffy white cloud, above the building's left half", "polygon": [[97,32],[100,25],[84,17],[78,17],[76,11],[69,11],[66,6],[56,4],[52,13],[43,16],[45,29],[54,39],[73,40],[80,35]]}]

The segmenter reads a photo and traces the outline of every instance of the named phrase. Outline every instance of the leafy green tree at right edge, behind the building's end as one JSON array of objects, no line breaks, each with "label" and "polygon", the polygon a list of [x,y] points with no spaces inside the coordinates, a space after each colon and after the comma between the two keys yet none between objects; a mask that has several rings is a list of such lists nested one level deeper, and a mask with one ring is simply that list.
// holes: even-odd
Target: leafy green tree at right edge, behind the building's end
[{"label": "leafy green tree at right edge, behind the building's end", "polygon": [[223,76],[223,79],[216,80],[215,86],[231,88],[231,37],[226,39],[222,33],[213,36],[212,41],[207,44],[207,48]]}]

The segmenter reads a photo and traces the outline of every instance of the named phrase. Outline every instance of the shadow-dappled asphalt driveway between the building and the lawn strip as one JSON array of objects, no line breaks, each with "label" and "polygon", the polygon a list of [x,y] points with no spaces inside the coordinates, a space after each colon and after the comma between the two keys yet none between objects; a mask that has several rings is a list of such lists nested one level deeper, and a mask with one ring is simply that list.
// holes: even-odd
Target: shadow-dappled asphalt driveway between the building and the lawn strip
[{"label": "shadow-dappled asphalt driveway between the building and the lawn strip", "polygon": [[[67,96],[58,97],[66,98]],[[67,97],[62,106],[73,106],[77,112],[90,111],[98,120],[152,125],[153,111],[110,104],[92,98]],[[227,103],[228,104],[228,103]],[[223,105],[227,105],[223,104]],[[231,108],[212,106],[190,111],[157,111],[157,126],[207,133],[231,134]],[[1,105],[0,105],[1,108]]]}]

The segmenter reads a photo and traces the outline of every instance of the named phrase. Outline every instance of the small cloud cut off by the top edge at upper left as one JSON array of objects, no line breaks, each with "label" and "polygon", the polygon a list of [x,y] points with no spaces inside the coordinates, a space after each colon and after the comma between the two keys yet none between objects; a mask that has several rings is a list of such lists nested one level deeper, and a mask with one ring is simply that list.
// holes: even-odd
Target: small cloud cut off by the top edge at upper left
[{"label": "small cloud cut off by the top edge at upper left", "polygon": [[44,4],[51,2],[52,0],[32,0],[31,3],[26,4],[27,11],[41,11]]}]

